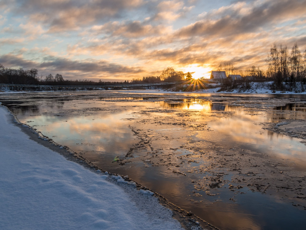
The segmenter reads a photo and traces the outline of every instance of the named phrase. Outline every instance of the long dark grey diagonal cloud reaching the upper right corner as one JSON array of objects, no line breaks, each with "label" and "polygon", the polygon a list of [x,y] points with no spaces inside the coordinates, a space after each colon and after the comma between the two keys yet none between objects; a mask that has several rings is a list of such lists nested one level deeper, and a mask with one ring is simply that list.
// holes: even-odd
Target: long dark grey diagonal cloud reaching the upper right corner
[{"label": "long dark grey diagonal cloud reaching the upper right corner", "polygon": [[177,36],[227,37],[254,32],[279,20],[291,20],[305,14],[304,3],[299,0],[264,1],[244,8],[245,4],[238,2],[205,14],[202,20],[181,28]]}]

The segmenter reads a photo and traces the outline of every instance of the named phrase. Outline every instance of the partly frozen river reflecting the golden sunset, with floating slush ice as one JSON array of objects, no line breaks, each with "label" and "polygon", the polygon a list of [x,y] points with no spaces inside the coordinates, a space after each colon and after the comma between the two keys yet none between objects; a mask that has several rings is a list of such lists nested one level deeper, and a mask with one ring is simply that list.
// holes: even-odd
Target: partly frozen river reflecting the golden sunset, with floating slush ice
[{"label": "partly frozen river reflecting the golden sunset, with floating slush ice", "polygon": [[304,139],[263,127],[306,121],[306,95],[83,91],[0,94],[0,102],[220,229],[305,229]]}]

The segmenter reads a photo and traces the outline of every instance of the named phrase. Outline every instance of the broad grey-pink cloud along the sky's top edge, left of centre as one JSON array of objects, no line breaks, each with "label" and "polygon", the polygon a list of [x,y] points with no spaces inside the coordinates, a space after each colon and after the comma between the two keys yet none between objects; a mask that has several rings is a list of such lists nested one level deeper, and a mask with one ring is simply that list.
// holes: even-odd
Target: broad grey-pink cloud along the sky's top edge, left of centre
[{"label": "broad grey-pink cloud along the sky's top edge, left of centre", "polygon": [[84,26],[122,18],[129,10],[143,6],[142,0],[15,0],[7,1],[8,8],[16,15],[27,15],[32,23],[41,23],[49,33],[77,30]]}]

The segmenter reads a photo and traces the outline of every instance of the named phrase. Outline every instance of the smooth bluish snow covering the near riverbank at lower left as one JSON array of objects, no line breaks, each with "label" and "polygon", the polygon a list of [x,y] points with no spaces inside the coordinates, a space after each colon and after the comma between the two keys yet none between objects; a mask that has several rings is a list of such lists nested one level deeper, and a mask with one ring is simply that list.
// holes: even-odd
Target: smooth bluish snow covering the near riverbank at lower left
[{"label": "smooth bluish snow covering the near riverbank at lower left", "polygon": [[10,119],[0,106],[0,229],[182,229],[151,191],[68,161]]}]

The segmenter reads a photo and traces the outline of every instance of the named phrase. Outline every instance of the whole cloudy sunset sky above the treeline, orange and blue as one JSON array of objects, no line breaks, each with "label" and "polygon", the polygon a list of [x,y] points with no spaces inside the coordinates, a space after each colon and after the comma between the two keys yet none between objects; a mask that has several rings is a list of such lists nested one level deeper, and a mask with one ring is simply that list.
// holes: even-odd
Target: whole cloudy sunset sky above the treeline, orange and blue
[{"label": "whole cloudy sunset sky above the treeline, orange and blue", "polygon": [[306,48],[306,0],[0,0],[0,63],[42,79],[124,81],[166,67],[207,77],[266,69],[273,44]]}]

